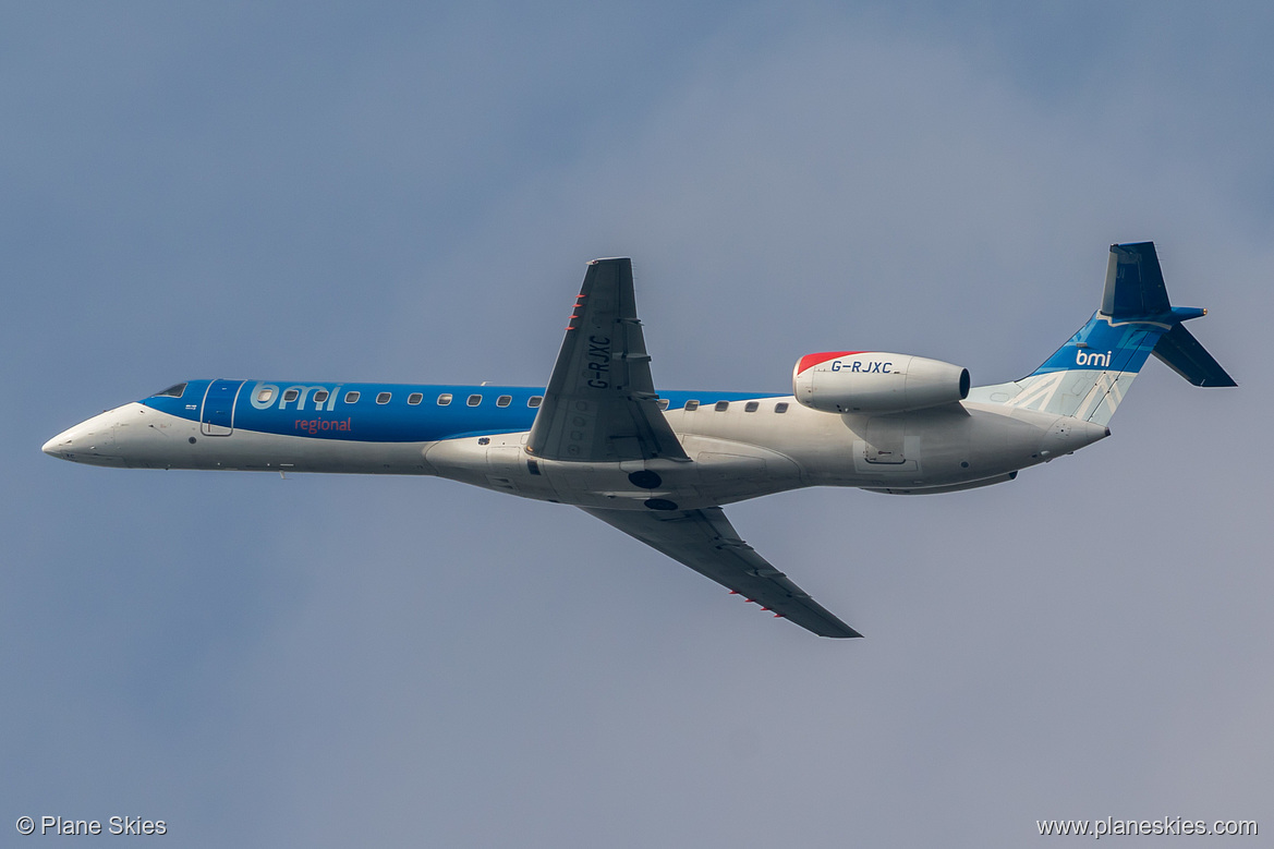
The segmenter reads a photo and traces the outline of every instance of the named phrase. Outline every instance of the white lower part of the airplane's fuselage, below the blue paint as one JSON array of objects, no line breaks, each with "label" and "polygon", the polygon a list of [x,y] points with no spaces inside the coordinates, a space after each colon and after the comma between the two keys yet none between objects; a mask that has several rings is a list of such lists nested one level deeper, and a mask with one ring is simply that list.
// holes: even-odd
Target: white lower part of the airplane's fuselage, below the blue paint
[{"label": "white lower part of the airplane's fuselage, below the blue paint", "polygon": [[[786,404],[776,413],[776,405]],[[724,505],[810,486],[943,492],[1006,481],[1018,469],[1089,445],[1108,431],[1080,419],[963,402],[889,416],[834,414],[787,398],[725,409],[665,413],[691,461],[577,463],[535,459],[527,430],[422,441],[359,441],[236,427],[209,435],[200,421],[144,403],[96,416],[45,451],[97,465],[352,474],[426,474],[529,498],[642,509]],[[638,488],[629,474],[657,473]]]}]

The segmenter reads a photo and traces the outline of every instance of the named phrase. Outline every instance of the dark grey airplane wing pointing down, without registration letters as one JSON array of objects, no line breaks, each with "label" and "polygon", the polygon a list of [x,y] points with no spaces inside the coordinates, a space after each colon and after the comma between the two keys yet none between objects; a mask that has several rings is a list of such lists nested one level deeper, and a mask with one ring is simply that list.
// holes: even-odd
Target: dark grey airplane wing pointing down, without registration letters
[{"label": "dark grey airplane wing pointing down, without registration letters", "polygon": [[819,636],[862,636],[743,542],[721,507],[581,510]]}]

